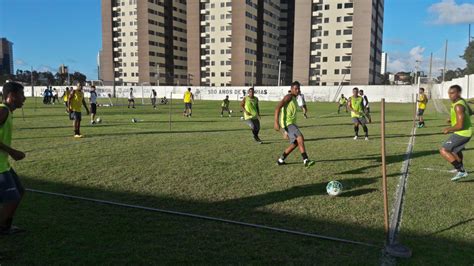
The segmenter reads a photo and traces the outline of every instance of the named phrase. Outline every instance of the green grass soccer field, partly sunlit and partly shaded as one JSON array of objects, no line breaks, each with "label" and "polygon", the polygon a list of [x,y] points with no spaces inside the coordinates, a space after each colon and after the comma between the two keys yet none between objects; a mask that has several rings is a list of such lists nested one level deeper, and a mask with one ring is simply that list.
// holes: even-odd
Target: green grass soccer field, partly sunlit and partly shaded
[{"label": "green grass soccer field, partly sunlit and partly shaded", "polygon": [[[63,106],[28,99],[15,112],[13,146],[27,152],[13,167],[25,187],[256,223],[383,246],[380,104],[371,106],[370,141],[354,141],[350,117],[310,103],[299,114],[313,168],[273,130],[275,102],[261,103],[264,144],[240,120],[220,117],[220,102],[198,101],[192,118],[181,101],[127,109],[99,107],[103,122],[73,139]],[[105,102],[104,102],[105,103]],[[430,108],[430,106],[429,106]],[[139,120],[132,123],[132,118]],[[389,200],[393,201],[413,125],[413,105],[387,105]],[[474,263],[473,178],[453,183],[438,155],[445,117],[426,112],[418,129],[400,237],[406,264]],[[361,130],[362,132],[362,130]],[[362,134],[361,134],[362,135]],[[465,153],[474,168],[472,144]],[[344,193],[326,194],[339,180]],[[0,263],[13,264],[378,264],[381,248],[343,244],[218,222],[28,193],[2,237]]]}]

